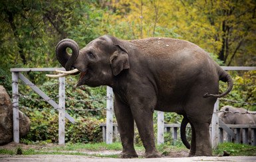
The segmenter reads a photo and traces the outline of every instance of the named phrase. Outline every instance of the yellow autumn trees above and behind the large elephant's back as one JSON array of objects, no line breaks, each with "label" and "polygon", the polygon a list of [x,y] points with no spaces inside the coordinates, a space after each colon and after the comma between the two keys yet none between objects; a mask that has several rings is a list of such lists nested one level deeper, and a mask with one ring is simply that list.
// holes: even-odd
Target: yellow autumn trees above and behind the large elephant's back
[{"label": "yellow autumn trees above and behind the large elephant's back", "polygon": [[122,24],[128,38],[182,38],[217,56],[225,65],[256,64],[253,0],[123,0],[112,1],[110,7],[114,12],[110,24],[118,28]]}]

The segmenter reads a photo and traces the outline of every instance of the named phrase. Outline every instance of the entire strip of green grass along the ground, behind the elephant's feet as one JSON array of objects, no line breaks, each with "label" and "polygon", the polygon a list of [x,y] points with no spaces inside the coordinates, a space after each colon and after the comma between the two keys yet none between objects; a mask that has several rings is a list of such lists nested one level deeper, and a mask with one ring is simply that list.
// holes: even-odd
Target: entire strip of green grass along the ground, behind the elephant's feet
[{"label": "entire strip of green grass along the ground, behind the elephant's feet", "polygon": [[[17,150],[21,149],[23,155],[85,155],[89,154],[79,152],[82,149],[92,150],[92,151],[100,151],[100,150],[122,150],[121,143],[112,143],[107,145],[106,143],[66,143],[65,146],[56,146],[56,147],[45,147],[43,149],[23,149],[22,147],[17,147],[15,151],[10,149],[0,149],[0,154],[17,154]],[[144,147],[135,147],[136,150],[144,150]],[[162,152],[163,155],[168,155],[172,150],[181,150],[186,149],[183,145],[159,145],[157,146],[158,151]],[[251,145],[243,145],[238,143],[221,143],[217,145],[216,149],[213,149],[213,155],[223,155],[223,151],[227,151],[230,155],[247,155],[247,156],[256,156],[256,146]],[[118,158],[118,154],[114,155],[90,155],[96,157],[112,157]]]}]

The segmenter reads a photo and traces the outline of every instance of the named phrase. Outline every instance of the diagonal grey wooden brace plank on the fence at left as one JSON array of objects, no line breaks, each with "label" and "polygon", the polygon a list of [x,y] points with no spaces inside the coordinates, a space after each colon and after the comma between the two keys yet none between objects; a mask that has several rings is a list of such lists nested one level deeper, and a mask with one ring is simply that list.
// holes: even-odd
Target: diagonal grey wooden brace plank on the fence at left
[{"label": "diagonal grey wooden brace plank on the fence at left", "polygon": [[[33,89],[36,93],[38,93],[43,99],[45,99],[49,104],[51,104],[55,109],[59,110],[59,105],[53,101],[50,97],[48,97],[41,89],[39,89],[36,85],[34,85],[29,79],[27,79],[23,74],[19,73],[19,78],[24,81],[31,89]],[[65,117],[74,124],[76,120],[70,116],[67,112],[65,112]]]}]

